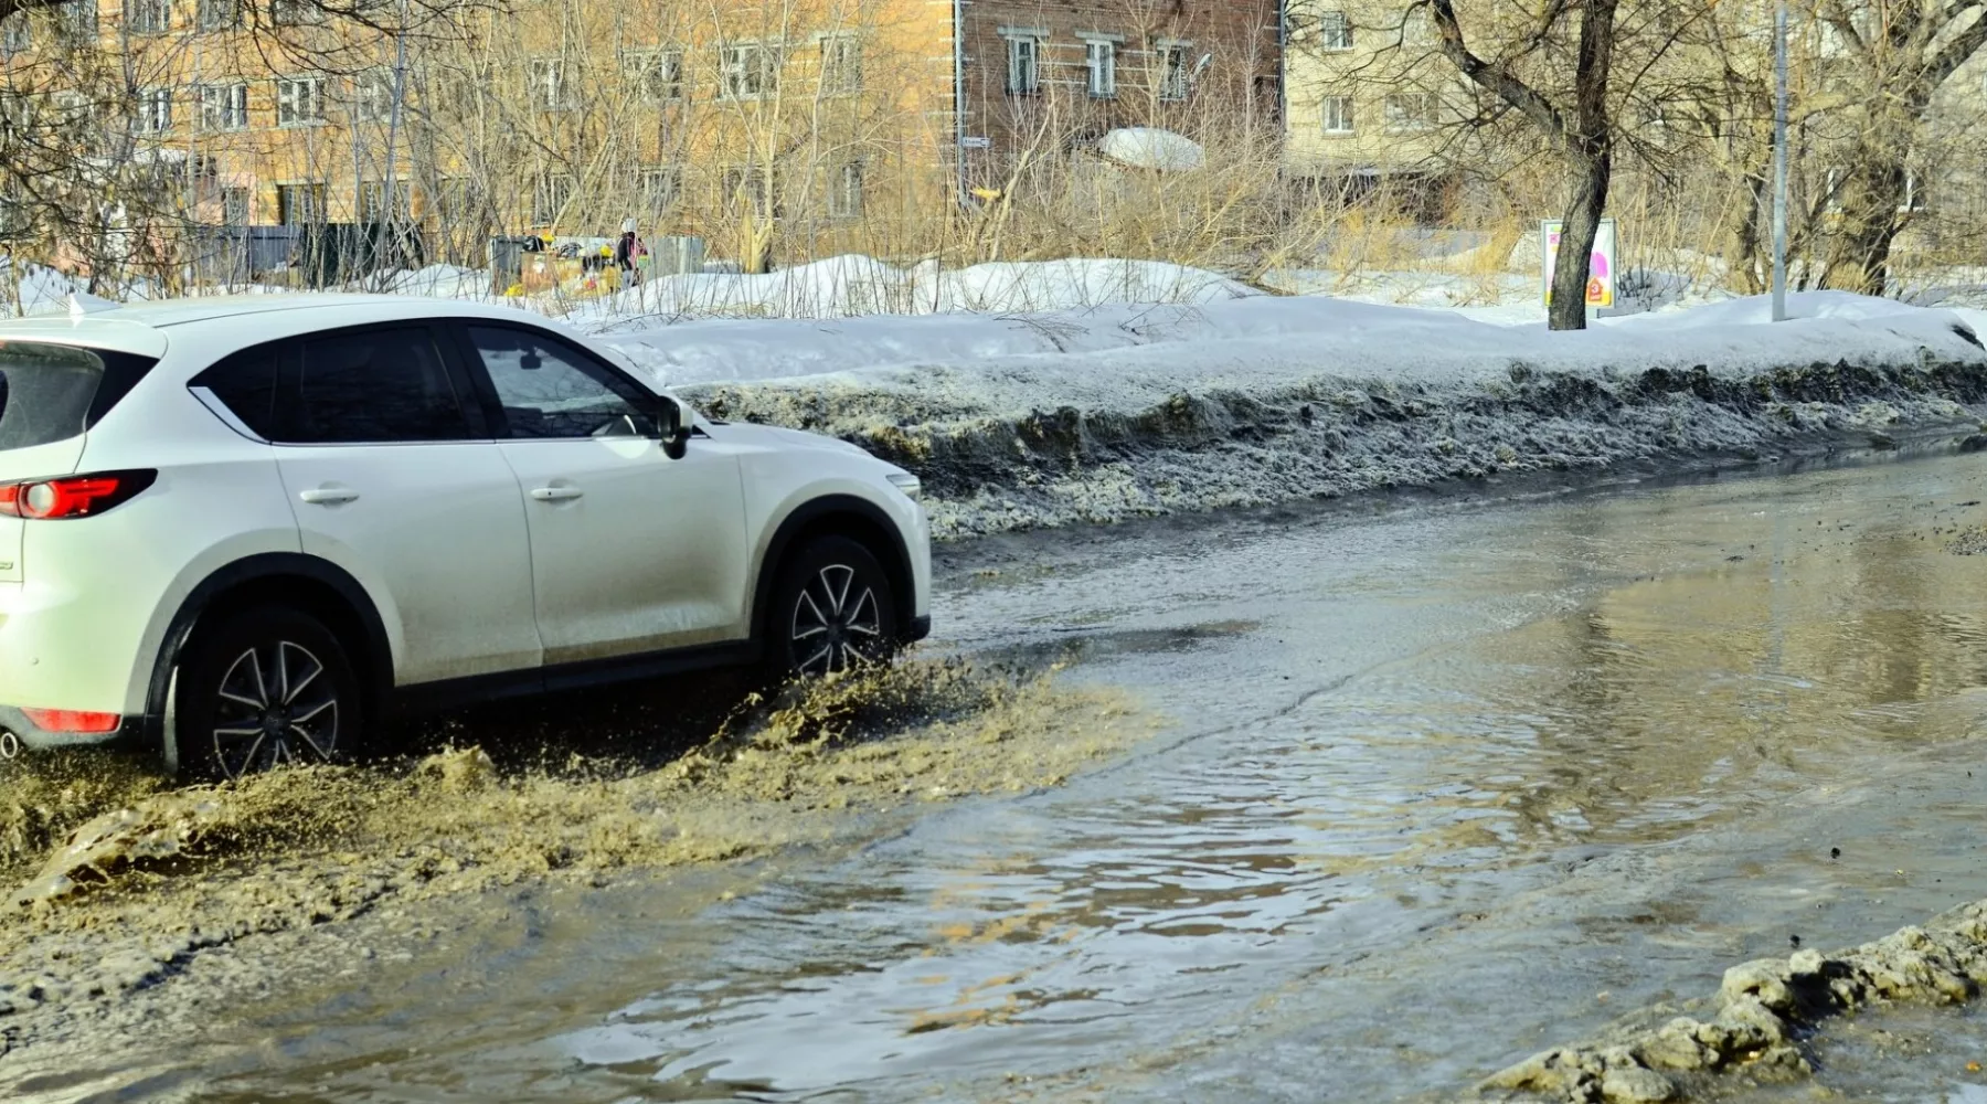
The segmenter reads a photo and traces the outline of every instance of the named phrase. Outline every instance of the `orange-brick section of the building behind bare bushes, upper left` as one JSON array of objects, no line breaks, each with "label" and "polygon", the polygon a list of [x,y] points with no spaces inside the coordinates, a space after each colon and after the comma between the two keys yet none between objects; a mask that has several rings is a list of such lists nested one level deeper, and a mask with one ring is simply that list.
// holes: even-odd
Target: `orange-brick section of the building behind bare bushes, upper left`
[{"label": "orange-brick section of the building behind bare bushes, upper left", "polygon": [[0,26],[0,99],[195,167],[199,222],[833,226],[950,183],[950,54],[924,0],[519,0],[403,40],[308,0],[72,0]]}]

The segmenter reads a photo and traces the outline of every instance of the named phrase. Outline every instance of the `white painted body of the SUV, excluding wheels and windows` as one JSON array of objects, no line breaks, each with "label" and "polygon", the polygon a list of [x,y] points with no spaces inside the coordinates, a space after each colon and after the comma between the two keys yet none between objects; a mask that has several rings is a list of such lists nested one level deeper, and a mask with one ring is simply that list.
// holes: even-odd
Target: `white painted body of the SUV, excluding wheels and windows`
[{"label": "white painted body of the SUV, excluding wheels and windows", "polygon": [[[485,433],[270,443],[193,385],[217,361],[266,357],[276,393],[292,383],[278,375],[286,357],[316,355],[314,342],[421,326],[433,328],[433,349],[451,349],[443,359],[457,357],[449,383],[481,371],[463,349],[495,365],[515,338],[517,367],[542,371],[542,355],[556,367],[572,345],[674,399],[556,322],[453,300],[195,298],[0,322],[0,353],[46,344],[155,361],[74,437],[8,449],[0,417],[0,492],[155,473],[99,514],[0,516],[0,733],[30,747],[159,743],[175,657],[201,618],[284,588],[340,604],[322,618],[362,637],[346,643],[372,717],[751,661],[779,558],[831,530],[860,538],[890,574],[898,639],[928,631],[930,530],[916,481],[842,441],[715,423],[682,401],[691,437],[680,459],[656,435],[505,437],[493,427],[525,413],[552,425],[560,413],[550,399],[523,413],[491,407],[491,367],[475,383],[483,391],[451,393],[465,409],[483,399],[503,411],[471,419],[485,419]],[[487,338],[501,347],[451,345],[471,326],[501,334]],[[529,377],[540,379],[552,377]],[[103,731],[101,717],[115,727]]]}]

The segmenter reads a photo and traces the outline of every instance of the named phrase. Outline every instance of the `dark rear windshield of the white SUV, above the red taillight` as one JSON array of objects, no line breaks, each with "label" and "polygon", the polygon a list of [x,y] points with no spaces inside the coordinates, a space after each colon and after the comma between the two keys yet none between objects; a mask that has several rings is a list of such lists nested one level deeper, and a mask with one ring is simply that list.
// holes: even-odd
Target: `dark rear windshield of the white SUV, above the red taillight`
[{"label": "dark rear windshield of the white SUV, above the red taillight", "polygon": [[0,340],[0,453],[81,437],[153,363],[107,349]]}]

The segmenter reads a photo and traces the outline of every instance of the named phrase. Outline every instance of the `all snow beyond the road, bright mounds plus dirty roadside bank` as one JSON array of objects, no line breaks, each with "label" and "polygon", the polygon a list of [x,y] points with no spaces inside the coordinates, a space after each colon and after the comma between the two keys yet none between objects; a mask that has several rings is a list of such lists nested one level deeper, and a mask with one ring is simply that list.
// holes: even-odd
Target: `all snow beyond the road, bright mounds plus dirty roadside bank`
[{"label": "all snow beyond the road, bright mounds plus dirty roadside bank", "polygon": [[[1550,334],[1536,276],[1266,284],[1309,294],[1141,260],[844,256],[521,306],[592,332],[711,415],[831,433],[918,471],[942,536],[1762,455],[1975,419],[1987,401],[1987,312],[1965,308],[1810,292],[1772,326],[1760,298],[1639,272],[1631,314]],[[389,286],[489,288],[445,266]],[[68,292],[46,270],[20,288],[42,310]]]}]

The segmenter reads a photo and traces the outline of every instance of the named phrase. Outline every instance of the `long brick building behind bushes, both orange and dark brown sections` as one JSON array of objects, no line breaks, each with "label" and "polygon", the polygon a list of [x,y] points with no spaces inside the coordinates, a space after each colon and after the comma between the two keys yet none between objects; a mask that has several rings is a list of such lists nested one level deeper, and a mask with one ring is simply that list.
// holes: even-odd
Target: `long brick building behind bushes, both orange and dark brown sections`
[{"label": "long brick building behind bushes, both orange and dark brown sections", "polygon": [[185,169],[189,222],[391,216],[463,262],[628,216],[719,254],[775,226],[787,258],[874,246],[856,228],[908,240],[1117,125],[1280,127],[1276,0],[511,0],[399,38],[358,10],[20,12],[0,101],[87,123],[66,141],[89,157]]}]

